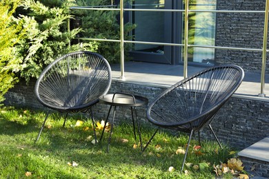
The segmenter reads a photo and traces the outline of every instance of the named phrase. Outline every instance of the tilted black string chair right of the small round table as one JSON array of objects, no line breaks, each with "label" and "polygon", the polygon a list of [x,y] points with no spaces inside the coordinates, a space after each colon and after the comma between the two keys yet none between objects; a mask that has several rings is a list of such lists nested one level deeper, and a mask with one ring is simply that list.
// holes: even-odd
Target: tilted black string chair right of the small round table
[{"label": "tilted black string chair right of the small round table", "polygon": [[[208,125],[219,143],[210,123],[221,106],[237,90],[243,76],[243,70],[237,65],[212,67],[172,85],[148,105],[148,120],[158,126],[155,134],[159,127],[190,133],[181,171],[194,131],[198,132],[200,143],[199,131]],[[219,146],[221,147],[220,143]]]}]

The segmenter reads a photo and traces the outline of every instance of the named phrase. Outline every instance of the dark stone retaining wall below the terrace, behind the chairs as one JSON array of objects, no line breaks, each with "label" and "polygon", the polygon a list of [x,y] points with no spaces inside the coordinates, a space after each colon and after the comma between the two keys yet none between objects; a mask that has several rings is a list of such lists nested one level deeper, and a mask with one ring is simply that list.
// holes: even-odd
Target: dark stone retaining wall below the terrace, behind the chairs
[{"label": "dark stone retaining wall below the terrace, behind the chairs", "polygon": [[[165,87],[112,81],[110,93],[126,92],[137,94],[146,96],[149,101],[152,101],[164,89]],[[34,96],[34,81],[30,81],[28,85],[25,82],[20,82],[16,87],[10,89],[10,92],[6,94],[5,104],[37,109],[43,108]],[[108,105],[98,103],[93,107],[94,116],[99,119],[105,119],[108,107]],[[137,109],[139,118],[143,120],[143,123],[148,124],[146,107],[138,107]],[[268,136],[268,111],[269,103],[233,96],[219,110],[212,123],[212,127],[215,129],[221,142],[228,143],[237,149],[244,149]],[[130,109],[121,107],[117,112],[116,118],[131,121]],[[215,140],[208,127],[205,127],[203,130],[202,137]]]}]

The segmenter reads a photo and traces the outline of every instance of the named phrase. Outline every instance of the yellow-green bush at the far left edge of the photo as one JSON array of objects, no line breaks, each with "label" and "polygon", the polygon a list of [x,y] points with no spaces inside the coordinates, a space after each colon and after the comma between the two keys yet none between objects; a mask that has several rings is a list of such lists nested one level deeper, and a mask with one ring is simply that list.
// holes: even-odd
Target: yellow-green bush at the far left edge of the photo
[{"label": "yellow-green bush at the far left edge of the photo", "polygon": [[19,0],[0,1],[0,102],[18,81],[14,73],[21,70],[21,61],[12,48],[23,34],[21,23],[12,16],[18,4]]}]

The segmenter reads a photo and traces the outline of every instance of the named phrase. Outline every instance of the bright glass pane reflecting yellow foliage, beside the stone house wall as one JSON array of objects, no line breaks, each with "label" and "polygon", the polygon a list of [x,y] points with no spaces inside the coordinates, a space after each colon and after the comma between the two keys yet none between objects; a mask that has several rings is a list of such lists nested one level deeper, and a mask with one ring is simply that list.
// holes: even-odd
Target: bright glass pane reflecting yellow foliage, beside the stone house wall
[{"label": "bright glass pane reflecting yellow foliage, beside the stone house wall", "polygon": [[[190,0],[190,10],[216,10],[217,0]],[[191,45],[215,45],[216,14],[213,12],[190,12],[188,43]],[[214,64],[212,48],[189,48],[188,61]]]}]

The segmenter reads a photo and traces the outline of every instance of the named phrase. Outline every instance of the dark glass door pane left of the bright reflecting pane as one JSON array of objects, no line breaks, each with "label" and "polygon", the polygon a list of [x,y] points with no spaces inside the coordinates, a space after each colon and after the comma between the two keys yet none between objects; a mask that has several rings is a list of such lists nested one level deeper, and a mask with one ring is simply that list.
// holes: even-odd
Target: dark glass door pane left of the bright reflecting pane
[{"label": "dark glass door pane left of the bright reflecting pane", "polygon": [[[135,0],[133,9],[171,9],[172,0]],[[172,43],[172,12],[133,11],[132,23],[137,27],[133,39],[141,42]],[[152,63],[172,63],[172,47],[134,43],[132,60]]]}]

